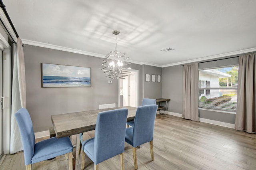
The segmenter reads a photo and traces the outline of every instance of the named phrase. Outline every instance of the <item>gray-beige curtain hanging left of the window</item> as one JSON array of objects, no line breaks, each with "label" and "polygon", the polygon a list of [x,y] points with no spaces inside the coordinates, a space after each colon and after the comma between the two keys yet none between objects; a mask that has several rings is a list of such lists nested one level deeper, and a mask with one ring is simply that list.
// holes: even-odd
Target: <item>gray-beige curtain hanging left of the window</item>
[{"label": "gray-beige curtain hanging left of the window", "polygon": [[198,63],[183,68],[183,110],[182,117],[198,121]]}]

